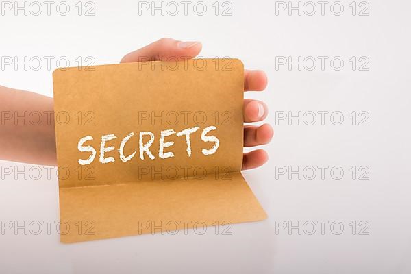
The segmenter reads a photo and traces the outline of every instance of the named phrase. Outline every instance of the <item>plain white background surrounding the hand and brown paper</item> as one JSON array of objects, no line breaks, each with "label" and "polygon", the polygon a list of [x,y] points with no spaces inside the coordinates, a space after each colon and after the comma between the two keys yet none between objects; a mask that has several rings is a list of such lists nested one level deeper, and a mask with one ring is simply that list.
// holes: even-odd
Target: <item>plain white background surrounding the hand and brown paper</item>
[{"label": "plain white background surrounding the hand and brown paper", "polygon": [[[246,96],[269,105],[267,120],[275,129],[275,137],[265,146],[269,162],[243,174],[269,219],[233,225],[231,235],[222,235],[221,231],[216,235],[209,229],[203,235],[190,231],[188,235],[155,234],[63,245],[55,232],[59,221],[55,173],[50,178],[43,174],[39,180],[17,173],[2,174],[1,221],[17,221],[19,225],[24,221],[55,223],[51,235],[47,235],[45,226],[39,235],[25,235],[23,229],[2,233],[1,273],[411,272],[409,1],[368,1],[368,16],[358,15],[366,8],[360,1],[356,2],[356,15],[352,15],[351,0],[341,1],[344,11],[340,16],[332,14],[339,12],[338,5],[330,10],[332,1],[325,5],[323,16],[318,3],[314,15],[305,14],[312,11],[312,5],[306,5],[299,16],[297,10],[291,15],[288,10],[276,10],[276,1],[232,1],[231,16],[221,15],[229,7],[223,1],[218,3],[218,16],[212,6],[215,1],[205,1],[208,10],[203,16],[193,11],[195,1],[187,16],[183,5],[179,5],[176,16],[162,16],[160,10],[153,16],[151,10],[139,14],[138,1],[95,1],[95,16],[84,16],[91,6],[85,8],[83,1],[83,15],[79,16],[76,2],[68,2],[71,11],[67,16],[56,12],[58,2],[52,5],[50,16],[44,4],[39,16],[30,12],[25,16],[23,10],[15,15],[15,7],[2,10],[2,57],[23,60],[25,56],[53,56],[54,61],[51,68],[44,63],[38,71],[33,67],[37,64],[27,70],[23,65],[2,67],[0,84],[52,96],[51,72],[57,58],[65,56],[71,66],[77,66],[77,58],[84,60],[87,56],[92,56],[95,64],[112,64],[125,53],[162,37],[199,40],[204,57],[240,58],[248,69],[264,69],[269,75],[266,92]],[[23,1],[18,3],[23,5]],[[290,69],[288,65],[276,68],[279,56],[329,59],[324,70],[317,59],[315,69],[308,70],[310,63],[299,71],[297,64]],[[329,60],[335,56],[344,60],[340,71],[330,66]],[[354,70],[349,61],[352,56],[356,57]],[[358,58],[362,56],[366,58],[362,60],[369,60],[365,66],[368,71],[359,70],[363,62]],[[338,116],[331,121],[327,114],[321,125],[317,114],[316,123],[307,125],[305,121],[312,121],[307,114],[301,125],[296,119],[291,125],[288,120],[276,125],[275,117],[280,113],[297,115],[299,111],[301,115],[341,112],[344,121],[334,125]],[[356,125],[349,116],[353,111],[358,118]],[[369,114],[369,125],[358,125],[359,118],[364,117],[358,116],[361,111]],[[19,170],[25,166],[0,164]],[[288,173],[281,175],[277,172],[281,166],[288,171],[288,166],[293,171],[298,166],[329,168],[324,179],[316,169],[316,177],[310,180],[312,173],[302,174],[301,179],[298,174],[291,178]],[[343,169],[342,179],[330,175],[333,166]],[[355,179],[349,171],[351,166],[357,169]],[[368,170],[369,180],[359,180],[360,166]],[[338,172],[335,174],[338,176]],[[298,227],[299,221],[301,234],[297,228],[276,231],[284,223]],[[328,222],[323,233],[319,221]],[[356,221],[354,235],[352,221]],[[312,222],[316,231],[310,235]],[[334,234],[339,227],[332,229],[332,222],[344,225],[340,235]],[[364,224],[369,227],[362,231],[366,233],[360,233]]]}]

